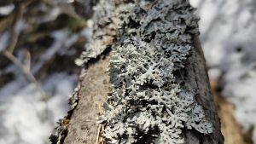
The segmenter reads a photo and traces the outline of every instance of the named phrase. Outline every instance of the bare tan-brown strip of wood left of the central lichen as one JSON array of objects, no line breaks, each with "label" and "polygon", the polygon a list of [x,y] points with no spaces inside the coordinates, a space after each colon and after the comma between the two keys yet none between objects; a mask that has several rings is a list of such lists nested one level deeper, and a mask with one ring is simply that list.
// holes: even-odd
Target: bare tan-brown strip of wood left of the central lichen
[{"label": "bare tan-brown strip of wood left of the central lichen", "polygon": [[74,110],[68,127],[65,144],[95,144],[99,125],[96,118],[102,112],[102,103],[108,95],[109,56],[91,64],[82,82],[78,107]]}]

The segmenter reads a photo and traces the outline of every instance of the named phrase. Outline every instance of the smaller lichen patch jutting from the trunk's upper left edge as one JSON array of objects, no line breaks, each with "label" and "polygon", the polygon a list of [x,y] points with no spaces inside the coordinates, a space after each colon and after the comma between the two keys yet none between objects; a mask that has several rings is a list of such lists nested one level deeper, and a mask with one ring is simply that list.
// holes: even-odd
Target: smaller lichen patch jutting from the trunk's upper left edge
[{"label": "smaller lichen patch jutting from the trunk's upper left edge", "polygon": [[[103,8],[102,8],[103,7]],[[119,4],[119,1],[103,1],[101,0],[94,10],[93,16],[95,22],[93,26],[93,38],[90,43],[85,45],[86,50],[76,60],[78,66],[82,66],[92,58],[101,55],[102,52],[113,45],[116,40],[117,30],[128,23],[129,15],[133,11],[132,3],[125,5]]]}]

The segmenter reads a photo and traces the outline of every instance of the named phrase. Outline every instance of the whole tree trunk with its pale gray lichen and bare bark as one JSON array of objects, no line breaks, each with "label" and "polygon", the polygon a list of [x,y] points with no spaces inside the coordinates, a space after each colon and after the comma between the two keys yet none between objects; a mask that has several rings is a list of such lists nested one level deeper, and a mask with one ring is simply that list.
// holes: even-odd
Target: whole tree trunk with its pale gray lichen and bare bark
[{"label": "whole tree trunk with its pale gray lichen and bare bark", "polygon": [[187,0],[100,1],[59,143],[224,143],[193,13]]}]

